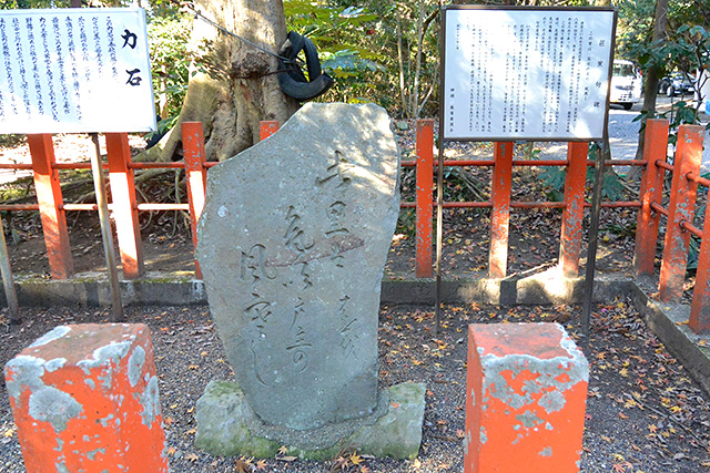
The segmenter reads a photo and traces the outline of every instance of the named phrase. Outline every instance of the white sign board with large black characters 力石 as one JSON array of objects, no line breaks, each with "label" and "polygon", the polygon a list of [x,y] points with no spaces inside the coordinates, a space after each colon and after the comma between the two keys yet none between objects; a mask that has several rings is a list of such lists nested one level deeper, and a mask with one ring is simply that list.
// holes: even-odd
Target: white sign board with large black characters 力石
[{"label": "white sign board with large black characters \u529b\u77f3", "polygon": [[155,130],[142,9],[0,11],[0,133]]}]

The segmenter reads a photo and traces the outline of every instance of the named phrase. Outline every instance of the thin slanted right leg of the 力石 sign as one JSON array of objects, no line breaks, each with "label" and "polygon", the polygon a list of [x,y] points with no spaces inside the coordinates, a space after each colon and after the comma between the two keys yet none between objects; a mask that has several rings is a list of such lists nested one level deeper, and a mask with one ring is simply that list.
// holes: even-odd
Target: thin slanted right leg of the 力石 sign
[{"label": "thin slanted right leg of the \u529b\u77f3 sign", "polygon": [[109,204],[106,202],[106,187],[101,166],[101,146],[99,145],[99,134],[91,133],[91,141],[94,145],[94,153],[91,155],[91,172],[93,173],[93,187],[97,194],[97,205],[99,206],[99,220],[101,222],[101,238],[103,239],[103,251],[106,258],[106,269],[111,284],[111,306],[113,309],[114,322],[123,321],[123,305],[121,302],[121,289],[119,287],[119,271],[115,267],[115,249],[113,247],[113,234],[111,233],[111,222],[109,220]]}]

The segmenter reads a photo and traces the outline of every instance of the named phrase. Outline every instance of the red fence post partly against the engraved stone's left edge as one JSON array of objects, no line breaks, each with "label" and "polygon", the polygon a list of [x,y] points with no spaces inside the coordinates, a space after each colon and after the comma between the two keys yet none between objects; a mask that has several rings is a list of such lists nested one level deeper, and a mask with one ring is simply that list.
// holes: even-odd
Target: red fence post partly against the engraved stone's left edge
[{"label": "red fence post partly against the engraved stone's left edge", "polygon": [[[183,155],[185,174],[187,176],[187,202],[190,204],[190,229],[192,244],[197,246],[197,219],[204,208],[207,174],[204,169],[204,132],[202,122],[183,122],[182,124]],[[200,264],[195,259],[195,277],[202,279]]]}]

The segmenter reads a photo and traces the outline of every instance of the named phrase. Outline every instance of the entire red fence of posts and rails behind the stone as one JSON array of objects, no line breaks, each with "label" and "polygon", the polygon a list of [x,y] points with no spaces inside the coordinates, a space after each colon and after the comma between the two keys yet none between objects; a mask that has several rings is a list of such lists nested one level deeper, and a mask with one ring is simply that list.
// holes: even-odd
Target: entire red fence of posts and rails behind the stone
[{"label": "entire red fence of posts and rails behind the stone", "polygon": [[[277,122],[263,122],[261,138],[278,130]],[[193,243],[196,244],[196,220],[204,206],[206,169],[216,163],[205,161],[204,136],[201,123],[183,123],[184,160],[176,163],[134,163],[131,161],[125,133],[106,134],[108,168],[119,249],[126,279],[143,274],[143,255],[138,226],[140,210],[189,210]],[[690,235],[702,238],[703,232],[693,227],[697,186],[710,186],[710,181],[698,176],[702,154],[703,131],[700,126],[683,125],[679,131],[678,150],[673,165],[666,162],[668,122],[649,120],[646,128],[646,151],[641,161],[607,161],[605,165],[645,166],[640,197],[637,202],[607,202],[602,207],[639,208],[633,266],[637,275],[653,273],[658,240],[659,216],[668,219],[659,290],[663,301],[678,301],[682,295]],[[402,203],[402,207],[416,207],[416,276],[432,277],[433,232],[433,172],[434,122],[420,120],[416,128],[416,161],[403,162],[405,167],[416,167],[416,202]],[[51,135],[28,135],[32,164],[4,164],[1,168],[31,168],[38,196],[37,205],[0,205],[0,210],[39,210],[52,277],[69,278],[73,275],[73,261],[65,224],[67,210],[91,210],[95,204],[63,204],[58,169],[84,168],[88,163],[59,164],[54,162]],[[567,160],[524,161],[513,158],[513,143],[495,143],[493,160],[445,161],[445,166],[491,166],[491,202],[450,202],[445,208],[491,208],[489,276],[506,277],[508,250],[508,224],[511,208],[562,208],[559,269],[565,277],[578,276],[581,248],[585,182],[588,143],[569,143]],[[566,166],[564,202],[511,202],[514,166]],[[187,203],[136,204],[133,184],[134,169],[184,168],[187,179]],[[678,169],[678,172],[673,172]],[[673,172],[671,202],[668,209],[661,206],[663,173]],[[710,206],[708,206],[710,217]],[[710,240],[710,237],[707,238]],[[196,264],[196,277],[201,277]],[[710,243],[702,239],[697,284],[692,302],[690,327],[710,330]]]}]

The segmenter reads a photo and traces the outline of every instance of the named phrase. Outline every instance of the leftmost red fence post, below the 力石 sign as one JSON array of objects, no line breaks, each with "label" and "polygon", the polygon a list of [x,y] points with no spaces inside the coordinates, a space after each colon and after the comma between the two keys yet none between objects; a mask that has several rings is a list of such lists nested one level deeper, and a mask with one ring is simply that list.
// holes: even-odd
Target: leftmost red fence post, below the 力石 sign
[{"label": "leftmost red fence post, below the \u529b\u77f3 sign", "polygon": [[34,191],[40,206],[44,244],[49,267],[54,279],[67,279],[74,274],[74,261],[69,246],[67,217],[61,208],[62,188],[59,174],[52,168],[54,164],[54,146],[50,134],[27,135],[32,155],[34,173]]}]

